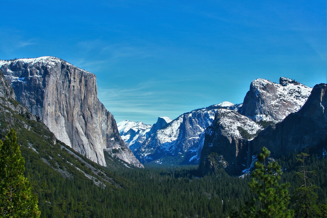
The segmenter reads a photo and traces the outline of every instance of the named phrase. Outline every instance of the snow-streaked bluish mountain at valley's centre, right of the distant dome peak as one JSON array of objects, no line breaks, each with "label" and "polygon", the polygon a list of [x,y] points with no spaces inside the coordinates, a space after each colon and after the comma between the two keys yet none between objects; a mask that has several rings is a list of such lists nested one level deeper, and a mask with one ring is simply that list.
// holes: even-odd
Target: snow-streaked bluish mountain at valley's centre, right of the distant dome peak
[{"label": "snow-streaked bluish mountain at valley's centre, right of the distant dome peak", "polygon": [[212,105],[185,113],[153,133],[134,152],[143,163],[197,164],[203,147],[204,130],[212,124],[218,108],[235,105]]}]

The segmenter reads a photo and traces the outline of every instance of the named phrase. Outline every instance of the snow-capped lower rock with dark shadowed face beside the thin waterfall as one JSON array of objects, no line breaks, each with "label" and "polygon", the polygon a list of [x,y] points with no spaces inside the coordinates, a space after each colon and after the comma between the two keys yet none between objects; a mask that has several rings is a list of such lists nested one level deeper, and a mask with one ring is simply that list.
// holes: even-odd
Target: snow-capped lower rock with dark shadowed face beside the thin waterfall
[{"label": "snow-capped lower rock with dark shadowed face beside the thin waterfall", "polygon": [[199,171],[202,174],[214,173],[221,167],[229,166],[229,171],[240,170],[239,165],[247,163],[249,140],[258,134],[262,127],[237,111],[218,109],[215,120],[205,131],[201,151]]}]

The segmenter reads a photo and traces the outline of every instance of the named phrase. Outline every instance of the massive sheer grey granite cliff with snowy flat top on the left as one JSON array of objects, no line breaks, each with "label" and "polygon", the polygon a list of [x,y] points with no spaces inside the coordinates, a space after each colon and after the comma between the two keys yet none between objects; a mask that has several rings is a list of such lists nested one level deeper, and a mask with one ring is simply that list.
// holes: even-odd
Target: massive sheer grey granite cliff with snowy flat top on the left
[{"label": "massive sheer grey granite cliff with snowy flat top on the left", "polygon": [[112,114],[97,99],[94,74],[54,57],[2,61],[0,67],[17,101],[80,154],[106,166],[103,149],[126,148]]}]

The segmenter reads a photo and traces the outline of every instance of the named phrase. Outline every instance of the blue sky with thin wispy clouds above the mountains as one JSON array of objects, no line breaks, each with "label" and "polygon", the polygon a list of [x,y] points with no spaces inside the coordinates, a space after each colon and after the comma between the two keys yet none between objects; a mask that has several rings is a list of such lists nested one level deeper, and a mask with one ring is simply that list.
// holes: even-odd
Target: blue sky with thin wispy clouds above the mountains
[{"label": "blue sky with thin wispy clouds above the mountains", "polygon": [[[110,3],[108,3],[110,2]],[[6,1],[0,59],[55,56],[97,76],[117,122],[153,124],[281,76],[326,82],[326,1]]]}]

